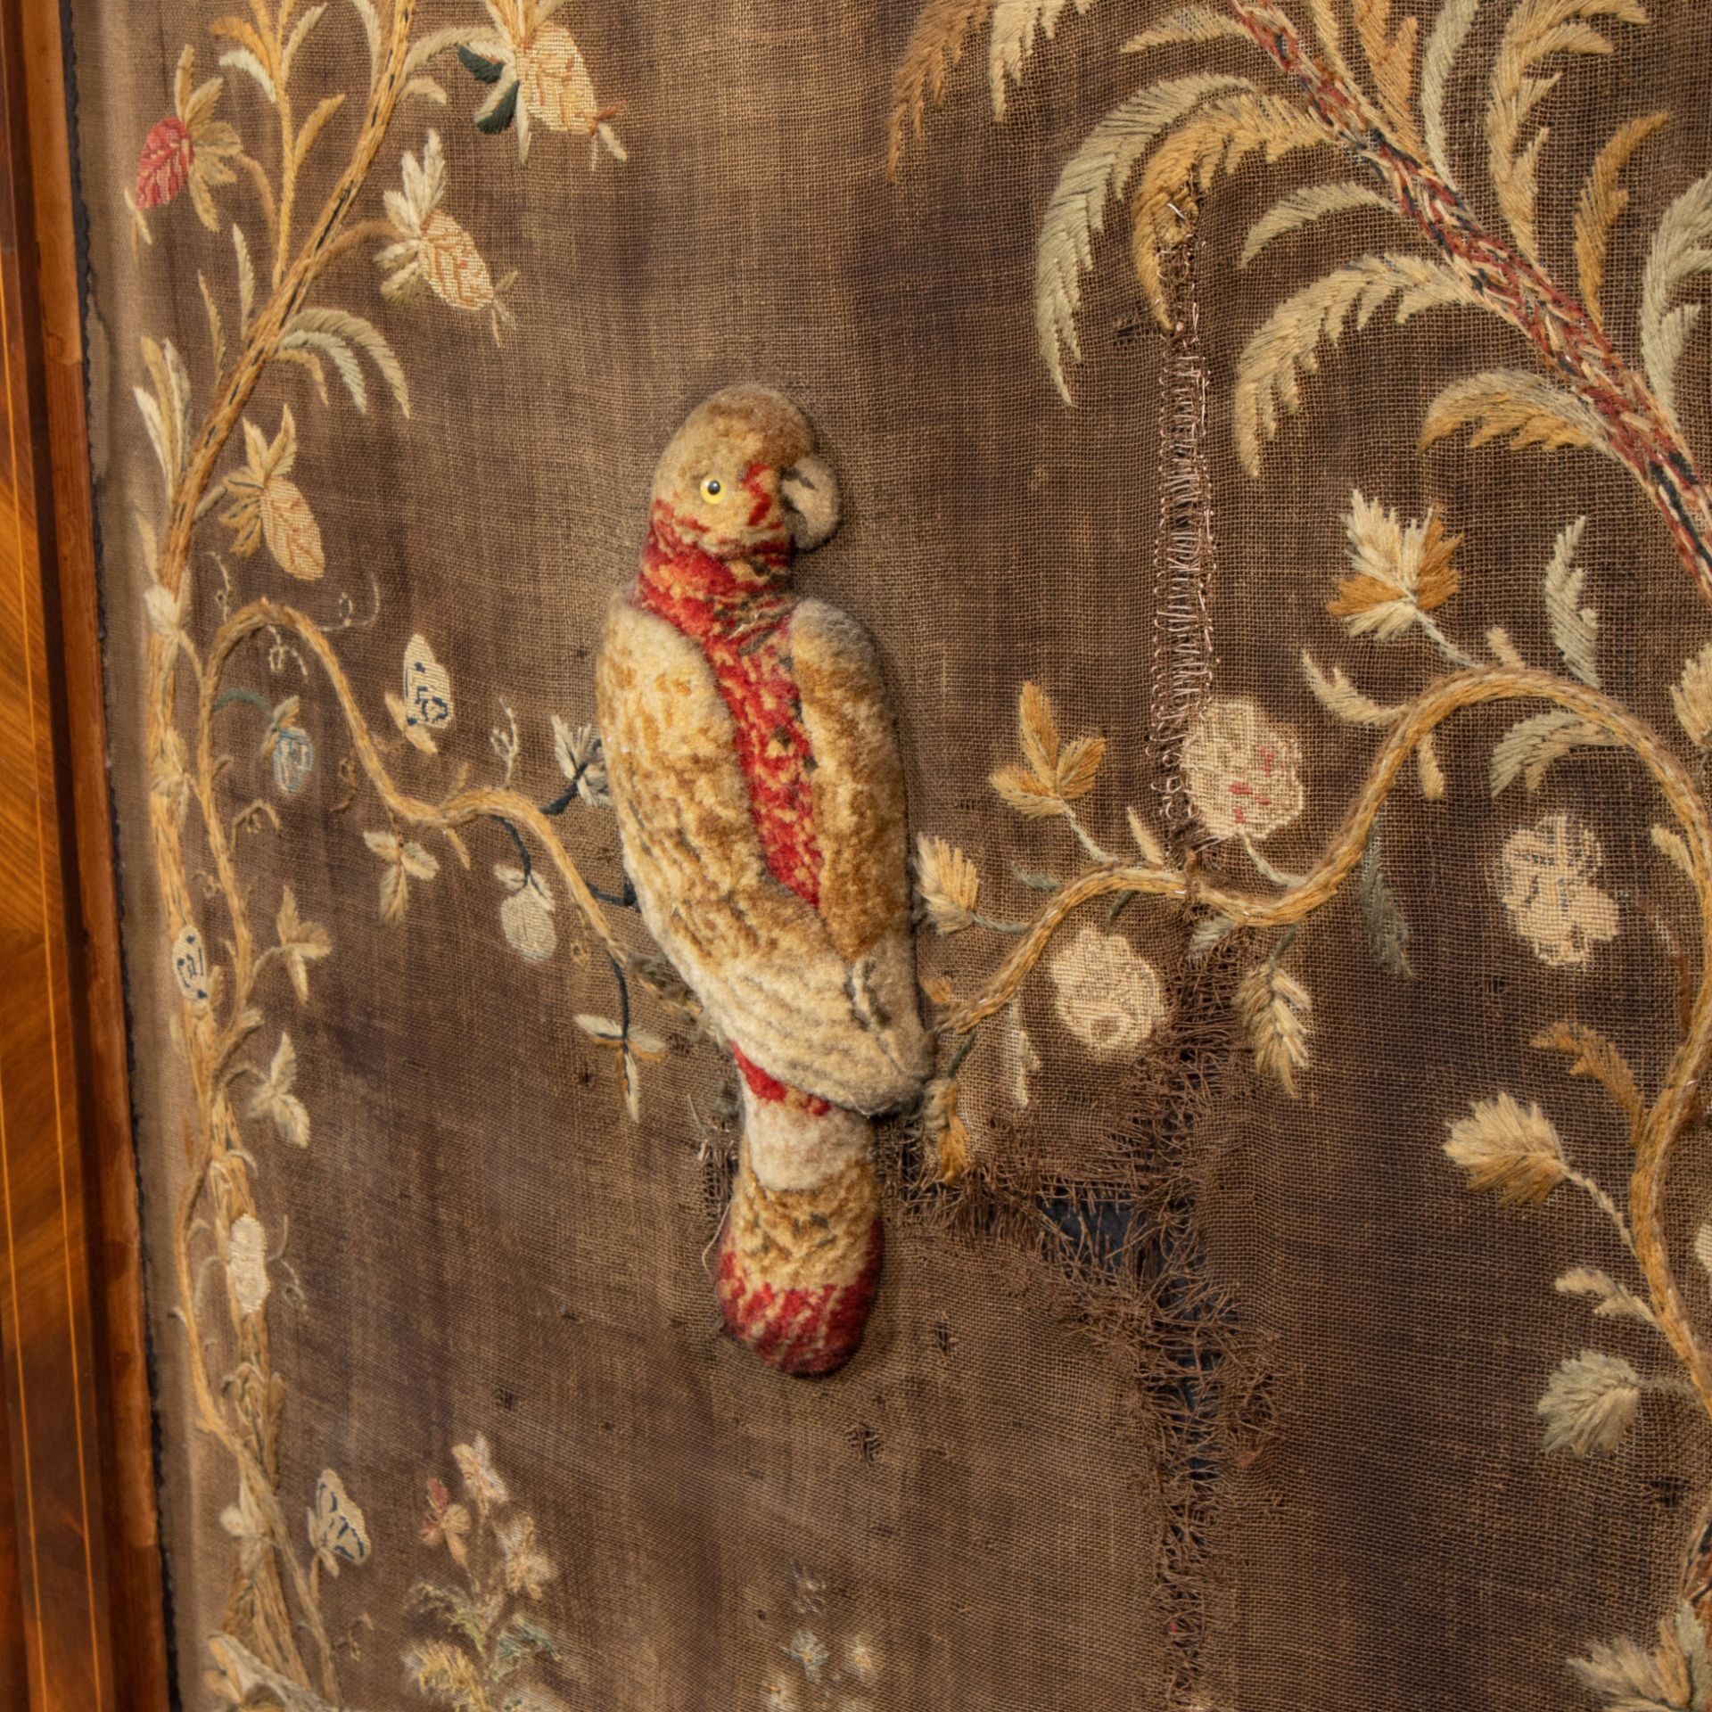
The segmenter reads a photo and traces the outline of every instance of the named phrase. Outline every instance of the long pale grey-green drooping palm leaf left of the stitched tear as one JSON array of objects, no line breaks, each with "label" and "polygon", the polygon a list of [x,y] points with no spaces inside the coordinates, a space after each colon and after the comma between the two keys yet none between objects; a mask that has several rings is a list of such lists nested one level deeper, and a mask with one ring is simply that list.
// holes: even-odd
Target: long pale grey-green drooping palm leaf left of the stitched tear
[{"label": "long pale grey-green drooping palm leaf left of the stitched tear", "polygon": [[1070,158],[1046,205],[1034,272],[1034,324],[1041,356],[1067,404],[1065,353],[1080,361],[1075,329],[1082,274],[1094,265],[1094,236],[1106,223],[1106,204],[1121,197],[1142,156],[1209,96],[1253,89],[1246,77],[1202,72],[1173,77],[1130,96],[1108,113]]}]

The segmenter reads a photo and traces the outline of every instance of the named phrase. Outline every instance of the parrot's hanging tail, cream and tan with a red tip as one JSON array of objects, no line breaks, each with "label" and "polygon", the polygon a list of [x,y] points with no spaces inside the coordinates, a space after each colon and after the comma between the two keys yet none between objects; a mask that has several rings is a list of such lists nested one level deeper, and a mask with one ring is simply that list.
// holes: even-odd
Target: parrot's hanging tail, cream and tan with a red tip
[{"label": "parrot's hanging tail, cream and tan with a red tip", "polygon": [[880,1284],[873,1126],[741,1055],[738,1065],[743,1144],[719,1238],[719,1308],[762,1361],[830,1373],[856,1352]]}]

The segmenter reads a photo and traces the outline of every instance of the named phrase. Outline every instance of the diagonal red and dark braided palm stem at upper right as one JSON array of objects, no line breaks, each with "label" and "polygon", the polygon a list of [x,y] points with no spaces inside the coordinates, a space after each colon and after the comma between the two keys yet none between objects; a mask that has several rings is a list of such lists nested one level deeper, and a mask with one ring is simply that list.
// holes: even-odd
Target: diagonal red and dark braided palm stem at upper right
[{"label": "diagonal red and dark braided palm stem at upper right", "polygon": [[1529,339],[1549,375],[1568,380],[1597,413],[1611,455],[1659,508],[1678,556],[1712,601],[1712,500],[1669,413],[1599,322],[1534,262],[1488,233],[1430,163],[1387,135],[1346,65],[1320,65],[1272,7],[1226,3],[1267,58],[1306,92],[1315,118],[1397,199],[1404,217],[1476,288],[1491,313]]}]

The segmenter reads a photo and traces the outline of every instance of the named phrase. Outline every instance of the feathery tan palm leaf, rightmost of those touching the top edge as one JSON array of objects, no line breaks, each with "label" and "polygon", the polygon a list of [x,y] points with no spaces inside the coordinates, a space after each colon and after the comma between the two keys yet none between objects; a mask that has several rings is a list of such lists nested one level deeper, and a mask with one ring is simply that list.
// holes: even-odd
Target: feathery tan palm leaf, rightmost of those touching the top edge
[{"label": "feathery tan palm leaf, rightmost of those touching the top edge", "polygon": [[1589,19],[1645,24],[1638,0],[1520,0],[1510,14],[1493,58],[1486,104],[1488,168],[1498,207],[1529,260],[1539,260],[1534,231],[1534,202],[1539,192],[1539,154],[1549,130],[1541,127],[1519,147],[1522,127],[1534,108],[1558,86],[1561,72],[1536,77],[1541,60],[1558,53],[1602,55],[1611,51]]}]

